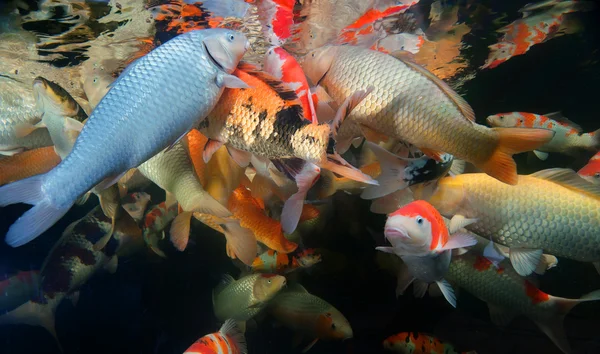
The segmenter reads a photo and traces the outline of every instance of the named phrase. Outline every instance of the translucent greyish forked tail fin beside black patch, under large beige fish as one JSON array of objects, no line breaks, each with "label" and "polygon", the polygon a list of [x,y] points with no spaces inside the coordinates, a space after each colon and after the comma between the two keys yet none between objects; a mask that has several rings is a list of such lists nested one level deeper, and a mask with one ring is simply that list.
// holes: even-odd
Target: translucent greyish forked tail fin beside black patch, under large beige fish
[{"label": "translucent greyish forked tail fin beside black patch, under large beige fish", "polygon": [[402,190],[408,186],[404,179],[404,169],[409,161],[400,158],[381,146],[372,142],[365,144],[375,154],[381,166],[381,174],[377,177],[379,186],[368,186],[360,197],[375,199]]}]

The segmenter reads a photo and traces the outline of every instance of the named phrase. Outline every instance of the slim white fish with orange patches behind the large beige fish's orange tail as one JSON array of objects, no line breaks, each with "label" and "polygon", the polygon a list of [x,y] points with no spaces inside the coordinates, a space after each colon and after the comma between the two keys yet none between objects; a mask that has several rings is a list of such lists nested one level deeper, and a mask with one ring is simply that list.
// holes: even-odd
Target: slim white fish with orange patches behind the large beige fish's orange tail
[{"label": "slim white fish with orange patches behind the large beige fish's orange tail", "polygon": [[575,154],[578,149],[598,151],[600,149],[600,129],[583,133],[581,127],[560,113],[534,114],[527,112],[498,113],[487,117],[493,127],[543,128],[554,131],[554,138],[533,152],[541,160],[548,158],[548,152]]}]

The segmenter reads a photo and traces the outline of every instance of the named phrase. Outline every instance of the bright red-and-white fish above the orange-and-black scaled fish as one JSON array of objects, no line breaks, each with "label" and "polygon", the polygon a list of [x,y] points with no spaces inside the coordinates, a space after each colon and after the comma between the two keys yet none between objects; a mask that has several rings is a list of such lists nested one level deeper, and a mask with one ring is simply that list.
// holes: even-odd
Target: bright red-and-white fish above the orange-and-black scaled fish
[{"label": "bright red-and-white fish above the orange-and-black scaled fish", "polygon": [[313,94],[306,81],[306,75],[304,75],[296,58],[281,47],[271,47],[265,54],[263,69],[296,92],[302,104],[304,119],[315,124],[319,123],[313,102]]}]

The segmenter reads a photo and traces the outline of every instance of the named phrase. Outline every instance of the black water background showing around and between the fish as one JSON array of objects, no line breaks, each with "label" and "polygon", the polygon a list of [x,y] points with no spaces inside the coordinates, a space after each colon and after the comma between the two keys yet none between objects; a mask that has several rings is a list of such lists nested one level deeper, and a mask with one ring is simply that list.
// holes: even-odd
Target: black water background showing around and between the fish
[{"label": "black water background showing around and between the fish", "polygon": [[[430,3],[422,0],[417,8],[425,14],[424,21]],[[482,3],[498,13],[494,16],[507,13],[505,20],[511,22],[527,1]],[[461,18],[469,22],[465,11],[461,10]],[[600,10],[597,7],[577,17],[582,32],[534,46],[526,55],[477,72],[464,85],[462,91],[479,123],[499,112],[562,111],[586,131],[600,128]],[[487,46],[497,41],[493,18],[469,23],[473,30],[464,40],[472,46],[465,51],[470,71],[483,64]],[[554,154],[542,162],[522,154],[517,161],[519,171],[529,173],[556,166],[578,169],[588,158]],[[161,200],[160,192],[152,190],[152,194],[155,202]],[[91,199],[23,247],[12,249],[1,243],[0,269],[5,273],[38,269],[65,227],[94,207],[96,201]],[[27,208],[0,209],[0,235]],[[487,306],[465,291],[460,292],[456,310],[442,298],[405,295],[395,299],[396,280],[375,264],[375,241],[367,230],[382,230],[384,222],[385,216],[369,212],[368,201],[338,193],[325,229],[305,238],[305,246],[325,248],[333,254],[311,274],[302,274],[301,283],[344,313],[355,335],[343,343],[319,342],[311,353],[377,353],[382,341],[399,331],[434,333],[462,350],[478,353],[560,353],[525,318],[507,328],[495,327]],[[98,274],[81,289],[77,307],[63,302],[57,311],[56,329],[65,353],[182,353],[200,336],[216,331],[219,325],[212,313],[211,291],[220,274],[237,275],[238,270],[225,255],[221,235],[200,223],[192,229],[194,242],[185,252],[167,249],[167,260],[151,252],[120,259],[116,274]],[[576,298],[600,288],[600,276],[590,264],[563,259],[540,281],[542,290],[563,297]],[[576,353],[600,352],[599,310],[599,304],[586,303],[567,316],[565,328]],[[291,331],[276,328],[268,317],[258,319],[258,326],[252,326],[246,337],[250,353],[300,352],[291,345]],[[13,325],[0,327],[0,353],[59,351],[43,328]]]}]

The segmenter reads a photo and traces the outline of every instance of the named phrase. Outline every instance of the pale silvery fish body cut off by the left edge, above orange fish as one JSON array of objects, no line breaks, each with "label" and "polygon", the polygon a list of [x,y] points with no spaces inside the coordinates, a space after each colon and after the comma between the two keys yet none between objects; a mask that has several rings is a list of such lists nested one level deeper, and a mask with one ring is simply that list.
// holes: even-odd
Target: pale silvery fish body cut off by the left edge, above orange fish
[{"label": "pale silvery fish body cut off by the left edge, above orange fish", "polygon": [[47,129],[19,137],[18,128],[23,124],[36,124],[40,116],[29,87],[11,78],[1,77],[0,85],[0,155],[52,146]]}]

